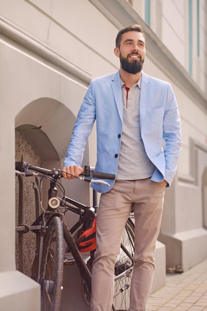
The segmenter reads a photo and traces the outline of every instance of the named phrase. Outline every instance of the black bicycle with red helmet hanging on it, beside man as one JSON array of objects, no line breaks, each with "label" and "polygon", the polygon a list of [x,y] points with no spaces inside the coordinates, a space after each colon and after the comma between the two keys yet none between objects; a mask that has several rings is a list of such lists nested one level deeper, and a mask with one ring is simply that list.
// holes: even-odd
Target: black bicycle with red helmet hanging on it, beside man
[{"label": "black bicycle with red helmet hanging on it, beside man", "polygon": [[[32,172],[32,171],[35,172]],[[58,181],[62,177],[61,170],[45,169],[30,165],[24,161],[15,162],[16,174],[39,176],[50,180],[48,190],[48,206],[31,225],[30,230],[37,234],[37,248],[32,265],[32,278],[41,286],[41,311],[59,311],[61,291],[63,289],[63,266],[75,261],[82,278],[81,293],[84,302],[90,306],[91,269],[95,252],[95,222],[97,214],[97,198],[93,192],[93,206],[86,206],[65,196],[65,190]],[[115,175],[95,172],[89,166],[77,177],[87,182],[100,182],[102,179],[114,179]],[[99,178],[99,179],[93,179]],[[102,178],[102,179],[101,179]],[[41,180],[42,180],[41,179]],[[58,196],[59,191],[63,196]],[[63,209],[63,212],[61,210]],[[67,211],[79,215],[79,220],[72,228],[68,228],[64,215]],[[120,253],[115,264],[115,287],[112,311],[127,309],[131,277],[134,268],[134,223],[131,215],[125,226],[120,245]],[[64,240],[67,253],[71,256],[64,259]],[[89,252],[85,263],[82,253]]]}]

